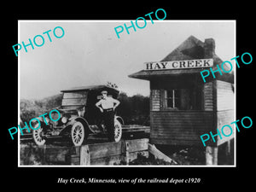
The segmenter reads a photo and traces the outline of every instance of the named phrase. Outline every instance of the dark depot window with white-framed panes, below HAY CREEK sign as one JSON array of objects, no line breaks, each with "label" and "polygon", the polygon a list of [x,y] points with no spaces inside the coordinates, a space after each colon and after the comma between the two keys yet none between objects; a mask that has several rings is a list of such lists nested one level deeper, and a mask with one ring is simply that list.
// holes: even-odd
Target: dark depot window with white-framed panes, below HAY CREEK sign
[{"label": "dark depot window with white-framed panes, below HAY CREEK sign", "polygon": [[163,107],[171,110],[200,110],[201,91],[196,89],[164,90]]}]

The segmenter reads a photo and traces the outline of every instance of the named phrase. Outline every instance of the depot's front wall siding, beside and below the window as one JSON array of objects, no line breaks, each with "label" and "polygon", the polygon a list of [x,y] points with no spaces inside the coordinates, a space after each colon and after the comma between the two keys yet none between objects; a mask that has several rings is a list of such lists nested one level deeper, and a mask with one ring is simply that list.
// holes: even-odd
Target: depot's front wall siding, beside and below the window
[{"label": "depot's front wall siding, beside and below the window", "polygon": [[160,87],[150,90],[150,142],[167,145],[201,145],[202,134],[213,128],[213,83],[202,86],[202,110],[162,109]]}]

